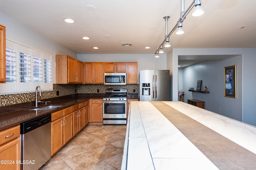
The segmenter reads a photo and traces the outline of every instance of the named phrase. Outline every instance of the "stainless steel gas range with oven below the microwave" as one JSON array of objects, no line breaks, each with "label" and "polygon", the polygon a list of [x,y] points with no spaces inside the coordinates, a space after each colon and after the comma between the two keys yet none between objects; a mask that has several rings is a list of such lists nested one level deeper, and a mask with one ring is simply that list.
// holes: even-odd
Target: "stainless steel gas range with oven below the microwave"
[{"label": "stainless steel gas range with oven below the microwave", "polygon": [[108,88],[103,97],[103,124],[126,125],[126,88]]}]

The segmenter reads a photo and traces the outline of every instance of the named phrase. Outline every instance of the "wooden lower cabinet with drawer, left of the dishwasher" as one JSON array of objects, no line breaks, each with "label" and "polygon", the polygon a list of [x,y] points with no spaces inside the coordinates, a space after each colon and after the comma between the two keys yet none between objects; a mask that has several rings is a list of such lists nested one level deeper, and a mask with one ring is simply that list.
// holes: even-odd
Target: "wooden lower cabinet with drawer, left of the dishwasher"
[{"label": "wooden lower cabinet with drawer, left of the dishwasher", "polygon": [[[20,170],[20,125],[0,131],[0,160],[14,161],[0,164],[0,170]],[[3,162],[5,163],[5,162]]]}]

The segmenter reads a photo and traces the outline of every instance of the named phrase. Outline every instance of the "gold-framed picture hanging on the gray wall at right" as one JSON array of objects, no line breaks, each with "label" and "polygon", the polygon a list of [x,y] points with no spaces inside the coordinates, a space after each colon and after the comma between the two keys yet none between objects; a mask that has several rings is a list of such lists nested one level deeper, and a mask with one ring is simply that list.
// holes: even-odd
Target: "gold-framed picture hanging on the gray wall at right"
[{"label": "gold-framed picture hanging on the gray wall at right", "polygon": [[224,96],[236,98],[236,65],[224,67]]}]

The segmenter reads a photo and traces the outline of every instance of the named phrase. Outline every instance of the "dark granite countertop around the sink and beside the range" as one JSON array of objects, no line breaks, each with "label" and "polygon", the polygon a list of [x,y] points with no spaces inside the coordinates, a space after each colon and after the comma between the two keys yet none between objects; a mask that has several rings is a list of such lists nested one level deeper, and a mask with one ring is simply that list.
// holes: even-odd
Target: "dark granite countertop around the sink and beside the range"
[{"label": "dark granite countertop around the sink and beside the range", "polygon": [[[40,117],[42,115],[52,113],[58,111],[60,109],[64,109],[66,107],[72,106],[74,104],[78,104],[84,102],[86,100],[92,98],[102,98],[105,96],[105,93],[102,94],[73,94],[68,96],[61,96],[57,98],[50,98],[41,100],[43,102],[51,101],[49,105],[62,105],[56,109],[50,110],[29,110],[35,108],[35,101],[26,102],[22,104],[14,104],[9,106],[0,107],[0,130],[6,129],[8,127],[12,127],[14,125],[18,125],[22,122],[34,119],[36,117]],[[138,94],[128,94],[127,98],[138,98]],[[39,107],[45,106],[44,104],[40,104]]]}]

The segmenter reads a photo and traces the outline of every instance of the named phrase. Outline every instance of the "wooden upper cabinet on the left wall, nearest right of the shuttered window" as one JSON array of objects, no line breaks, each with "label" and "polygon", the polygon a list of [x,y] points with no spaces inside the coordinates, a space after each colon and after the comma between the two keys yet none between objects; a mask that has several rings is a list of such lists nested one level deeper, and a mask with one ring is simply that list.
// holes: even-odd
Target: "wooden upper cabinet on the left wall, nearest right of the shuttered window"
[{"label": "wooden upper cabinet on the left wall, nearest right of the shuttered window", "polygon": [[56,55],[56,84],[82,83],[82,62],[68,55]]}]

